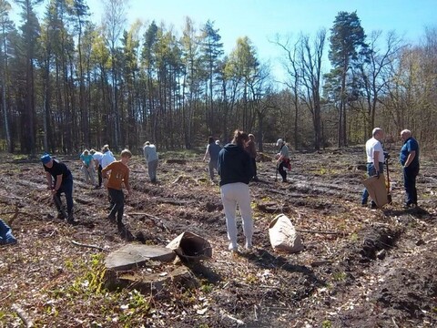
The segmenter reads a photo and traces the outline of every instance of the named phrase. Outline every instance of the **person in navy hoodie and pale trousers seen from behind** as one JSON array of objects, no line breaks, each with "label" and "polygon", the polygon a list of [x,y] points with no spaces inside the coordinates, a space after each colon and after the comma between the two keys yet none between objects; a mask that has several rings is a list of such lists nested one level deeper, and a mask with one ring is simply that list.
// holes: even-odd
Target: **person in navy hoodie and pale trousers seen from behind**
[{"label": "person in navy hoodie and pale trousers seen from behind", "polygon": [[219,152],[219,185],[230,241],[229,251],[238,251],[237,224],[235,220],[237,204],[239,204],[243,232],[246,237],[245,247],[246,249],[252,248],[253,220],[250,208],[249,181],[252,179],[254,172],[250,155],[244,150],[248,142],[248,134],[237,129],[234,132],[232,142]]}]

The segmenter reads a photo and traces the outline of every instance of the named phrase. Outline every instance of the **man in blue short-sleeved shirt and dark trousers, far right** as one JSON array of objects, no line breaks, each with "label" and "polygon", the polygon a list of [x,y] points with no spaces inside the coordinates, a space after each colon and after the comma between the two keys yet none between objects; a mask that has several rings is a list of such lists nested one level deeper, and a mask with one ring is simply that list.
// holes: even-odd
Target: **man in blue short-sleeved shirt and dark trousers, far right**
[{"label": "man in blue short-sleeved shirt and dark trousers, far right", "polygon": [[403,167],[403,186],[405,188],[405,208],[417,206],[416,177],[419,174],[419,143],[412,138],[412,131],[401,131],[403,146],[399,160]]}]

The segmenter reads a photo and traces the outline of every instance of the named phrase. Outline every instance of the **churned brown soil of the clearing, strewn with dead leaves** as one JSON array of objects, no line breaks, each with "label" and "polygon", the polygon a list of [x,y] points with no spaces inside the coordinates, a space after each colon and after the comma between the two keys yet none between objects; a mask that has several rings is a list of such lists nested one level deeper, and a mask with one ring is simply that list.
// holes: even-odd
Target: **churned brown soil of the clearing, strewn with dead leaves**
[{"label": "churned brown soil of the clearing, strewn with dead leaves", "polygon": [[[361,207],[362,148],[294,154],[289,183],[275,181],[273,161],[259,162],[260,180],[250,183],[255,247],[232,255],[219,185],[209,182],[200,151],[162,154],[157,184],[144,159],[131,160],[127,233],[107,220],[107,190],[86,185],[78,160],[60,157],[75,178],[71,226],[56,219],[39,160],[0,157],[0,215],[18,239],[0,246],[0,327],[437,326],[435,160],[422,159],[419,207],[409,210],[395,160],[392,204]],[[304,251],[272,250],[269,221],[279,213],[301,231]],[[197,284],[147,294],[105,289],[109,251],[128,242],[165,246],[183,231],[206,238],[212,259],[147,270],[185,265]],[[243,245],[240,222],[239,237]]]}]

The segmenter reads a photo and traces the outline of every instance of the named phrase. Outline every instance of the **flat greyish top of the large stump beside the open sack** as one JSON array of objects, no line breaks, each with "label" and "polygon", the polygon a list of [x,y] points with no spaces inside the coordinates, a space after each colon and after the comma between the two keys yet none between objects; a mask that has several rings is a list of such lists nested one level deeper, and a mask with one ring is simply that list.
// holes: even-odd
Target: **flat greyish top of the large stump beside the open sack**
[{"label": "flat greyish top of the large stump beside the open sack", "polygon": [[156,245],[128,244],[107,255],[108,270],[125,271],[143,266],[147,261],[170,262],[176,257],[174,251]]}]

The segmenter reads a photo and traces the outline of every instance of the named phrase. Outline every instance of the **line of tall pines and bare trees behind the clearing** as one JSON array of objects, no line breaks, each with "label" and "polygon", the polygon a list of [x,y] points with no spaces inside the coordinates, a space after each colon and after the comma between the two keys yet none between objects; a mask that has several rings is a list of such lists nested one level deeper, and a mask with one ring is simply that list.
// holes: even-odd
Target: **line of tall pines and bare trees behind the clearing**
[{"label": "line of tall pines and bare trees behind the clearing", "polygon": [[[127,0],[105,0],[102,23],[85,0],[0,0],[0,146],[35,156],[110,144],[135,153],[150,140],[191,149],[235,128],[295,149],[359,143],[381,126],[410,128],[431,147],[437,132],[437,29],[408,45],[395,32],[366,35],[339,12],[314,36],[278,36],[286,80],[273,80],[249,37],[229,54],[219,28],[187,17],[183,30],[155,21],[127,27]],[[45,5],[42,19],[36,7]],[[323,58],[328,55],[330,71]]]}]

